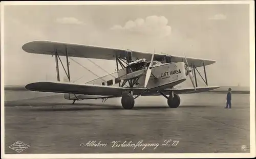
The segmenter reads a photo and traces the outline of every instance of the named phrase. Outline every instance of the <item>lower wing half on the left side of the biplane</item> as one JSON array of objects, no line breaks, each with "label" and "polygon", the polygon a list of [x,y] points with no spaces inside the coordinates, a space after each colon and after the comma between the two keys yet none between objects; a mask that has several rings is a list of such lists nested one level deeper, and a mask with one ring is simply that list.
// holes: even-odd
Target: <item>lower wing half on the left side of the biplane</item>
[{"label": "lower wing half on the left side of the biplane", "polygon": [[90,95],[121,96],[122,92],[132,90],[134,94],[140,94],[146,88],[125,88],[114,86],[100,86],[91,84],[73,84],[64,82],[36,82],[26,85],[26,89],[39,92],[72,93]]}]

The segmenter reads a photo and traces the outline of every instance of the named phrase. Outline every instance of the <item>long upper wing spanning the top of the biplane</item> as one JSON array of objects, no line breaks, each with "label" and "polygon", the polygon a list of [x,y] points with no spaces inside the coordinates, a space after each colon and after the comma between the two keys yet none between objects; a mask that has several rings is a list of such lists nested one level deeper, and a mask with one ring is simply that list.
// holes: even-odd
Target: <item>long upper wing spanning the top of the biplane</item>
[{"label": "long upper wing spanning the top of the biplane", "polygon": [[[22,46],[23,50],[29,53],[34,54],[45,54],[45,55],[54,55],[53,52],[56,49],[59,56],[66,56],[66,48],[69,57],[78,57],[78,58],[92,58],[92,59],[105,59],[105,60],[114,60],[116,57],[125,58],[126,52],[125,49],[116,49],[116,48],[106,48],[98,46],[89,46],[81,44],[70,44],[70,43],[61,43],[53,41],[32,41],[26,43]],[[132,56],[138,59],[146,59],[151,61],[152,54],[150,52],[142,51],[132,51]],[[155,54],[156,59],[161,59],[166,57],[164,54]],[[184,57],[179,56],[170,56],[172,62],[185,62]],[[186,58],[188,65],[194,65],[196,67],[201,67],[204,65],[210,65],[215,63],[214,60],[205,60],[205,59],[196,59],[196,58]]]}]

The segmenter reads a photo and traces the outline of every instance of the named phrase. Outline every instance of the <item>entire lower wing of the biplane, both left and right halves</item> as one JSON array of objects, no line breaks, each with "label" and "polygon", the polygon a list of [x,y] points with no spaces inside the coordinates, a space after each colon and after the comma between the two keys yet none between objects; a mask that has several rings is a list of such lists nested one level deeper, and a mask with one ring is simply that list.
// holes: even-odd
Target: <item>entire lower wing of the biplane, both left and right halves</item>
[{"label": "entire lower wing of the biplane, both left and right halves", "polygon": [[[146,88],[129,88],[115,86],[101,86],[92,84],[74,84],[66,82],[36,82],[26,85],[26,89],[39,92],[53,93],[70,93],[70,94],[85,94],[85,95],[102,95],[102,96],[122,96],[123,92],[133,91],[134,95],[145,92]],[[181,89],[165,89],[162,92],[173,91],[176,94],[200,93],[219,88],[218,86],[181,88]],[[146,93],[147,94],[147,93]],[[148,94],[150,95],[150,94]]]}]

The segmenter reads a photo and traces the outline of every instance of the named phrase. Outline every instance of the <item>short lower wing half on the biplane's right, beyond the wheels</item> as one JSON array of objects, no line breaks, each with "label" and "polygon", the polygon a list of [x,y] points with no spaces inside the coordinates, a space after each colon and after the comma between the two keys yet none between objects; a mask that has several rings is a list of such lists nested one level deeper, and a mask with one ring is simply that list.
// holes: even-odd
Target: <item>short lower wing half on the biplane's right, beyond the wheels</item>
[{"label": "short lower wing half on the biplane's right, beyond the wheels", "polygon": [[190,93],[200,93],[210,90],[220,88],[219,86],[210,86],[210,87],[197,87],[196,91],[194,88],[181,88],[181,89],[165,89],[165,91],[173,91],[176,94],[190,94]]}]

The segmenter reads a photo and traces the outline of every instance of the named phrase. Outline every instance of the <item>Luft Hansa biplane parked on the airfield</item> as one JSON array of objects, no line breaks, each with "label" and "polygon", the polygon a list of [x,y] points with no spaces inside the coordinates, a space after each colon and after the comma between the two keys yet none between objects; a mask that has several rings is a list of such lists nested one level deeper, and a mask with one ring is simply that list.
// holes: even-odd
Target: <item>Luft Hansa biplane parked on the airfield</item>
[{"label": "Luft Hansa biplane parked on the airfield", "polygon": [[[108,98],[121,97],[122,107],[132,109],[135,99],[139,96],[162,95],[167,98],[170,108],[177,108],[180,105],[178,94],[199,93],[219,88],[217,86],[209,87],[207,83],[205,66],[216,62],[213,60],[170,56],[162,53],[155,54],[155,51],[151,54],[149,52],[53,41],[33,41],[24,44],[22,48],[29,53],[55,56],[58,81],[31,83],[26,85],[26,89],[64,93],[65,99],[73,100],[73,103],[83,99],[101,98],[104,101]],[[59,56],[66,56],[67,70]],[[99,77],[86,84],[72,83],[69,70],[69,58],[71,57],[115,60],[117,76],[109,74],[112,79],[108,81]],[[58,61],[61,62],[67,75],[64,82],[60,82]],[[121,69],[119,69],[118,64]],[[198,71],[198,67],[204,68],[205,79]],[[190,70],[190,68],[193,69]],[[206,87],[198,87],[196,70],[207,85]],[[194,74],[195,83],[191,72]],[[176,85],[186,80],[187,75],[189,75],[194,87],[175,88]]]}]

